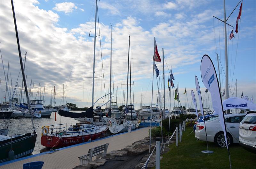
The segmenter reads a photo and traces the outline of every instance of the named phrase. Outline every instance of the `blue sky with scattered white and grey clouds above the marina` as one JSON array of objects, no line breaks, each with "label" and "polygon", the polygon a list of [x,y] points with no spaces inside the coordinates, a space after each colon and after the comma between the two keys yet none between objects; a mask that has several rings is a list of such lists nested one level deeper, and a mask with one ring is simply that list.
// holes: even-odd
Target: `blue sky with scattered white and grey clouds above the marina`
[{"label": "blue sky with scattered white and grey clouds above the marina", "polygon": [[[238,2],[226,1],[227,18]],[[239,7],[240,4],[227,21],[234,27],[236,27]],[[44,98],[45,100],[45,105],[49,105],[51,91],[55,87],[56,104],[62,104],[64,85],[64,104],[70,102],[75,103],[78,107],[90,107],[92,105],[91,77],[95,1],[14,0],[14,9],[22,57],[27,52],[25,74],[28,90],[32,81],[30,93],[32,96],[33,91],[33,99],[35,97],[40,99],[41,95],[41,99]],[[204,107],[209,107],[211,97],[209,96],[208,99],[208,93],[204,92],[206,88],[200,80],[200,63],[204,54],[211,57],[216,70],[218,70],[216,57],[216,53],[218,53],[220,57],[219,80],[221,90],[224,91],[226,83],[224,24],[212,17],[215,16],[224,20],[223,1],[100,0],[98,13],[99,23],[97,21],[95,52],[95,77],[97,78],[95,78],[94,85],[94,101],[104,96],[105,93],[109,93],[110,25],[112,25],[113,99],[118,102],[118,105],[122,105],[123,102],[126,104],[125,84],[127,83],[129,34],[132,58],[132,102],[134,102],[136,109],[140,107],[141,100],[142,105],[151,104],[154,37],[162,59],[161,63],[156,62],[160,71],[161,86],[163,85],[162,48],[164,49],[166,107],[170,109],[170,99],[167,99],[170,98],[167,73],[171,67],[175,78],[174,85],[175,87],[179,86],[181,104],[184,106],[189,104],[189,107],[193,107],[191,105],[191,90],[195,90],[195,75],[197,75],[203,93]],[[229,86],[232,91],[229,93],[230,96],[236,96],[235,84],[237,79],[237,95],[240,97],[243,92],[249,98],[253,96],[255,100],[256,1],[243,1],[238,34],[234,30],[235,38],[229,40],[232,29],[231,26],[227,26],[228,75]],[[10,62],[8,89],[10,91],[12,86],[12,95],[16,81],[18,86],[21,86],[22,78],[21,75],[18,78],[20,62],[12,7],[9,0],[0,1],[0,48],[6,77],[8,62]],[[0,102],[3,102],[6,82],[2,61],[0,67]],[[102,70],[104,71],[104,79]],[[159,78],[157,81],[159,83]],[[153,104],[157,104],[158,88],[155,76],[153,85]],[[185,88],[187,95],[183,94]],[[24,96],[24,94],[22,95]],[[15,96],[20,97],[20,87],[15,91]],[[130,92],[128,96],[130,100]],[[8,94],[6,97],[8,98]],[[108,98],[100,99],[96,105],[103,104],[106,99]],[[175,105],[178,105],[176,101]],[[173,106],[173,92],[171,90],[171,107]]]}]

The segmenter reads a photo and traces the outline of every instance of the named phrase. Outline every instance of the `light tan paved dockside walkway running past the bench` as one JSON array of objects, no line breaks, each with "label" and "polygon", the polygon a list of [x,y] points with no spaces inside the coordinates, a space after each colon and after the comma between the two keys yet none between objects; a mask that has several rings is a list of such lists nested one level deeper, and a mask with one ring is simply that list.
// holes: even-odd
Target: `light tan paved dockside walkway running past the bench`
[{"label": "light tan paved dockside walkway running past the bench", "polygon": [[88,153],[88,150],[92,147],[109,143],[108,152],[113,150],[120,150],[125,148],[127,145],[131,145],[135,141],[139,141],[148,136],[148,127],[138,130],[133,130],[131,133],[123,133],[119,135],[110,136],[93,142],[82,143],[82,145],[73,146],[70,148],[64,148],[56,151],[52,154],[34,155],[16,161],[10,164],[2,165],[0,168],[4,169],[18,169],[22,168],[25,163],[33,161],[44,161],[43,169],[69,169],[80,165],[80,161],[77,157],[83,156]]}]

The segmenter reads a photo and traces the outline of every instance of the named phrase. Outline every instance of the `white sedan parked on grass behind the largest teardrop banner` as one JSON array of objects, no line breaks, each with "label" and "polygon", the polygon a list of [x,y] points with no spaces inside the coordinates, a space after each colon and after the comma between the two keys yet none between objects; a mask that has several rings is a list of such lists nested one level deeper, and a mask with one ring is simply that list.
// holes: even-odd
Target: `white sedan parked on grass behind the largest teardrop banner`
[{"label": "white sedan parked on grass behind the largest teardrop banner", "polygon": [[[225,122],[227,128],[228,145],[239,142],[239,123],[246,114],[226,114]],[[223,130],[220,126],[220,118],[216,117],[205,121],[207,141],[214,142],[220,147],[226,147]],[[206,141],[204,122],[197,123],[195,137],[198,140]]]}]

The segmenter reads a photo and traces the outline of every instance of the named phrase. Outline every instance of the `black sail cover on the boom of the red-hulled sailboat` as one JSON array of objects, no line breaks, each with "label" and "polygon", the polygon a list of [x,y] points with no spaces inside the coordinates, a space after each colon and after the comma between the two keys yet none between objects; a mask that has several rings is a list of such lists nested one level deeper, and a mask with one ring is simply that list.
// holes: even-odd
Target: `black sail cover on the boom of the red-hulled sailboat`
[{"label": "black sail cover on the boom of the red-hulled sailboat", "polygon": [[67,112],[64,110],[59,110],[58,113],[61,116],[64,117],[71,117],[71,118],[76,118],[76,117],[87,117],[87,118],[93,118],[93,107],[90,107],[86,112],[82,113],[75,113],[75,112]]}]

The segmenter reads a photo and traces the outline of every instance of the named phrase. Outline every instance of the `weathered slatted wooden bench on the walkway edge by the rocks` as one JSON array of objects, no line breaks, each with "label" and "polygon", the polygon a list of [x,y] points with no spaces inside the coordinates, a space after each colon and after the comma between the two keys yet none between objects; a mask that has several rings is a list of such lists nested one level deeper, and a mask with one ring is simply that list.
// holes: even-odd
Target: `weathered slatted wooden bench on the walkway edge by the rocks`
[{"label": "weathered slatted wooden bench on the walkway edge by the rocks", "polygon": [[88,154],[78,157],[80,165],[88,164],[92,161],[92,157],[96,156],[96,159],[105,157],[107,155],[108,143],[89,149]]}]

